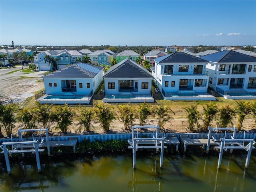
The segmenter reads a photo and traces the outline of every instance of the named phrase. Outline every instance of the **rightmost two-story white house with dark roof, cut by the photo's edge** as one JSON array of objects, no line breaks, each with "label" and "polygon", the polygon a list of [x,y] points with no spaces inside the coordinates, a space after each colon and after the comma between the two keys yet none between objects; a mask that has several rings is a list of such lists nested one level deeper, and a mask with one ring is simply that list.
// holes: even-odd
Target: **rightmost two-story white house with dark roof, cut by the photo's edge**
[{"label": "rightmost two-story white house with dark roof, cut by the photo's edge", "polygon": [[226,50],[200,58],[208,60],[210,88],[226,99],[256,99],[256,57]]}]

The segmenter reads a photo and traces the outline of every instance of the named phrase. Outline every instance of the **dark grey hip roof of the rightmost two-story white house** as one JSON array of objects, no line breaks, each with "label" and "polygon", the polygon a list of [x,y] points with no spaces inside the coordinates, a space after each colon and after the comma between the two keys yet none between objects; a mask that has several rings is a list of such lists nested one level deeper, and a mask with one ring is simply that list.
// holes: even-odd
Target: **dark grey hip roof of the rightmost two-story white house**
[{"label": "dark grey hip roof of the rightmost two-story white house", "polygon": [[218,63],[256,62],[256,57],[230,50],[220,51],[199,58]]}]

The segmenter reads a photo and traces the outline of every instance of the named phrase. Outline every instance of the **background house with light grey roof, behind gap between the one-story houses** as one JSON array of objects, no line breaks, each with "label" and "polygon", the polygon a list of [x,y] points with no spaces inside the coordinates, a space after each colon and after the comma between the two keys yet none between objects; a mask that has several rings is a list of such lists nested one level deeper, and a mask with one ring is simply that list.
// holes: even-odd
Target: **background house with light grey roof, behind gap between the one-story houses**
[{"label": "background house with light grey roof, behind gap between the one-story houses", "polygon": [[111,50],[97,50],[88,54],[88,57],[90,57],[92,64],[111,65],[112,59],[115,58],[115,53]]}]

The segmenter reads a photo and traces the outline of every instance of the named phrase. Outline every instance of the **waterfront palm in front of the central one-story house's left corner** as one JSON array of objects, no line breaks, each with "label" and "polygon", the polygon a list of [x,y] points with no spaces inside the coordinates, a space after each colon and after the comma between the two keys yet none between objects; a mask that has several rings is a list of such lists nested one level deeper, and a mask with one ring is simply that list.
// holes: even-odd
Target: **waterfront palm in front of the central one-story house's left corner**
[{"label": "waterfront palm in front of the central one-story house's left corner", "polygon": [[104,131],[109,131],[110,123],[116,119],[116,113],[113,108],[108,105],[96,105],[96,117],[100,121]]}]

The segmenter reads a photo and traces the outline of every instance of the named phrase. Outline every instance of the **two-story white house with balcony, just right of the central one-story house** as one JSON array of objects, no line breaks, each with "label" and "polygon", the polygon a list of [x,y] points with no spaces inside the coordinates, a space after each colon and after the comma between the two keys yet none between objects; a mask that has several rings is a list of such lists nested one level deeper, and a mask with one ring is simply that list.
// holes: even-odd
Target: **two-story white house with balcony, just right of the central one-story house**
[{"label": "two-story white house with balcony, just right of the central one-story house", "polygon": [[154,59],[154,81],[167,100],[216,100],[207,93],[207,61],[184,52]]}]

